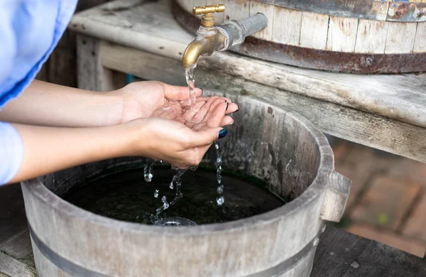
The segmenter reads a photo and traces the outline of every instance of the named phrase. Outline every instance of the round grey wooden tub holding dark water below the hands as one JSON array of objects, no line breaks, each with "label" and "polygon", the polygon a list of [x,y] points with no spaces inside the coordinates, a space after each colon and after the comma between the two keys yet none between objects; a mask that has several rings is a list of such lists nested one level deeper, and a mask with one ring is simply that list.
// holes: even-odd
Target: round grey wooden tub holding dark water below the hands
[{"label": "round grey wooden tub holding dark water below the hands", "polygon": [[[350,181],[334,171],[327,139],[307,119],[249,96],[227,96],[244,109],[221,141],[224,168],[267,180],[271,191],[293,201],[220,224],[150,226],[58,197],[93,176],[143,167],[146,159],[62,170],[22,183],[38,276],[310,276],[323,221],[342,217]],[[214,165],[214,158],[212,152],[205,162]]]}]

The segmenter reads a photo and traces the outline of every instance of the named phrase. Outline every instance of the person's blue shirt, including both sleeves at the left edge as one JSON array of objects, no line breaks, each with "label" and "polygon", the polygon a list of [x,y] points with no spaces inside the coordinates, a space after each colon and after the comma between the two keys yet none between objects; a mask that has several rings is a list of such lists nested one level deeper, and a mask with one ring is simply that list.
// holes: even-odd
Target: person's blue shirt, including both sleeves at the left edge
[{"label": "person's blue shirt, including both sleeves at the left edge", "polygon": [[[0,0],[0,110],[35,78],[67,28],[77,0]],[[0,185],[21,167],[18,132],[0,122]]]}]

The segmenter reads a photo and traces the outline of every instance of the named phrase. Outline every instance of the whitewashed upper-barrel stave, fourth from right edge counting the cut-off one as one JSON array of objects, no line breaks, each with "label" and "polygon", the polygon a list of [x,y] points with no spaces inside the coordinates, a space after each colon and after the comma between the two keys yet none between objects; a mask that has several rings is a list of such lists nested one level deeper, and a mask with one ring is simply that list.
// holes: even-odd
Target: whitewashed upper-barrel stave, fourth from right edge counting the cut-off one
[{"label": "whitewashed upper-barrel stave, fourth from right edge counting the cut-off one", "polygon": [[327,50],[354,52],[358,18],[330,16]]}]

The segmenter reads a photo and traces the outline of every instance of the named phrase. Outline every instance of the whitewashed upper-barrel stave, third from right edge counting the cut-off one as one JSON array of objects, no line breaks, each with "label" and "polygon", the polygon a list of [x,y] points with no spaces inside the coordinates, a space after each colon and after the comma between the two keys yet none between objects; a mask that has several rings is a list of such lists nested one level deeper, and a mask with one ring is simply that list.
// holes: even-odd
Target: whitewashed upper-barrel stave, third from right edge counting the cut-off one
[{"label": "whitewashed upper-barrel stave, third from right edge counting the cut-off one", "polygon": [[387,21],[371,21],[359,19],[356,33],[356,53],[385,53],[386,36],[389,23]]}]

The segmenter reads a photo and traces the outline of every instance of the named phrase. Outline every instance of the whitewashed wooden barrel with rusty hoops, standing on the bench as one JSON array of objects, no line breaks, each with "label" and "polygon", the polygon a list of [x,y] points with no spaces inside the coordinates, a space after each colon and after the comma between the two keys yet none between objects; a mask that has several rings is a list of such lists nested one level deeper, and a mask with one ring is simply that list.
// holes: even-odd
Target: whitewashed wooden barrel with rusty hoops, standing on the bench
[{"label": "whitewashed wooden barrel with rusty hoops, standing on the bench", "polygon": [[200,26],[192,6],[225,4],[217,23],[258,12],[268,28],[233,49],[263,60],[353,73],[426,71],[426,0],[173,0],[175,18]]}]

